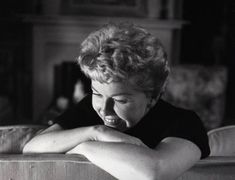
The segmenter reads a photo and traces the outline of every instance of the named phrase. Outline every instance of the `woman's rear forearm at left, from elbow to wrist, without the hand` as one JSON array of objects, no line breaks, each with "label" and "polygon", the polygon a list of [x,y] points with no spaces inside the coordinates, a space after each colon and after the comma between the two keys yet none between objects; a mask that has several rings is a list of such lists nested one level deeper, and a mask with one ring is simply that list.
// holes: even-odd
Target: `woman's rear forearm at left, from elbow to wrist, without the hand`
[{"label": "woman's rear forearm at left, from elbow to wrist, without the hand", "polygon": [[23,148],[23,153],[64,153],[79,143],[92,140],[92,127],[63,130],[54,124],[32,138]]}]

